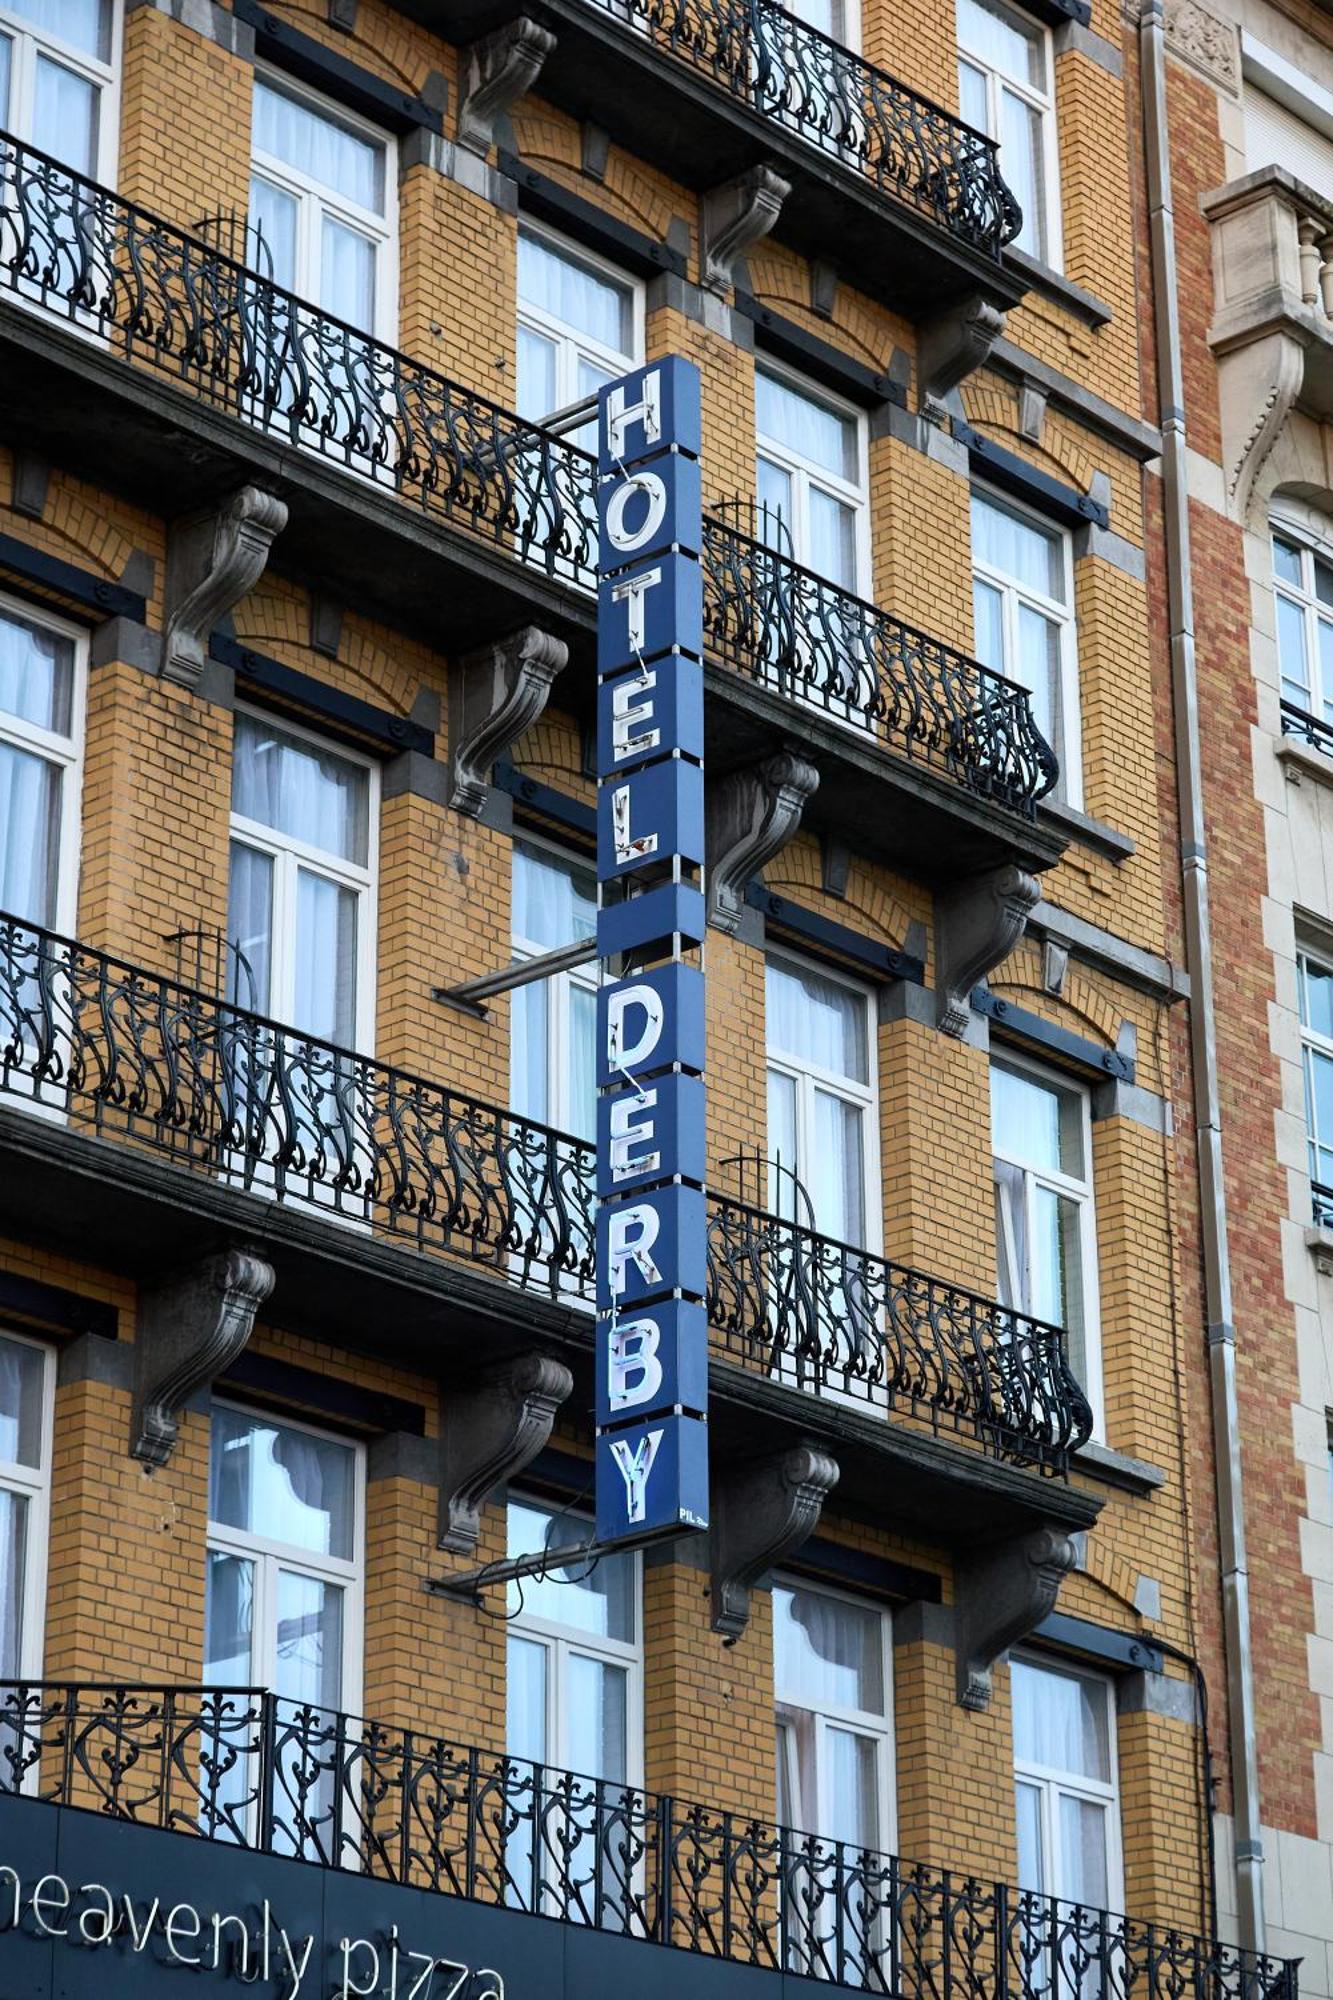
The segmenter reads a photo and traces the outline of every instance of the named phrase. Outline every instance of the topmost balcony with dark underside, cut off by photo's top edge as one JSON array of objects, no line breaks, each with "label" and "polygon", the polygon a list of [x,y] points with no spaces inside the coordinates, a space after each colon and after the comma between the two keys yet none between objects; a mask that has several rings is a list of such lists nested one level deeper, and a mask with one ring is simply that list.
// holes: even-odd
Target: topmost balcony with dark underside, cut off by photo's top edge
[{"label": "topmost balcony with dark underside, cut off by photo's top edge", "polygon": [[775,166],[777,234],[835,258],[909,318],[1027,284],[1003,262],[1021,228],[995,140],[775,0],[402,0],[452,42],[520,14],[554,32],[536,96],[707,192]]}]

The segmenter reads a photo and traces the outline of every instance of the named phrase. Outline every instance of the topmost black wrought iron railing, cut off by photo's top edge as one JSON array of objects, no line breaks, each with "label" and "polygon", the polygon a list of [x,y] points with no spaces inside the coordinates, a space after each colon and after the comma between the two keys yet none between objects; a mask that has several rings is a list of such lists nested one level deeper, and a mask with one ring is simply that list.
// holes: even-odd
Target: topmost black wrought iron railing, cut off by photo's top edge
[{"label": "topmost black wrought iron railing, cut off by photo's top edge", "polygon": [[1023,228],[993,138],[773,0],[598,4],[959,242],[999,258]]}]

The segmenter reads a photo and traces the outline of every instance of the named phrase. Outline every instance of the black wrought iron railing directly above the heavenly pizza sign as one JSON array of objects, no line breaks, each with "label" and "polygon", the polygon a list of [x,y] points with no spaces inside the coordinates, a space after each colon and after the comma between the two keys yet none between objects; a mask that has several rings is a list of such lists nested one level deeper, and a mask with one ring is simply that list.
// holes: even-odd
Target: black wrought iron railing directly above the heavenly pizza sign
[{"label": "black wrought iron railing directly above the heavenly pizza sign", "polygon": [[254,1688],[0,1682],[0,1794],[895,2000],[1297,2000],[1297,1962]]}]

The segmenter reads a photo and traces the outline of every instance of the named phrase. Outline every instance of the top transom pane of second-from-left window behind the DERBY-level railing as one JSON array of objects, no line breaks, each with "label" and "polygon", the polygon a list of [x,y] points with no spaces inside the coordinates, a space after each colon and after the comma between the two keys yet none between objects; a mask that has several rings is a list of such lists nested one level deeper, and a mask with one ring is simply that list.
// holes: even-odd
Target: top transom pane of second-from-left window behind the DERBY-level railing
[{"label": "top transom pane of second-from-left window behind the DERBY-level railing", "polygon": [[368,772],[262,716],[236,716],[232,812],[366,866]]}]

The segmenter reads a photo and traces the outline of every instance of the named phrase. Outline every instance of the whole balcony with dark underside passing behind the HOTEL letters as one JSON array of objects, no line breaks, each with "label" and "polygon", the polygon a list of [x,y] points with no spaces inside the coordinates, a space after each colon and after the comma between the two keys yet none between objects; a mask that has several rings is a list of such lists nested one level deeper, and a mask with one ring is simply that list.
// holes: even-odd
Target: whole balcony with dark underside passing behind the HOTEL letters
[{"label": "whole balcony with dark underside passing behind the HOTEL letters", "polygon": [[[590,706],[588,454],[12,140],[0,426],[152,512],[276,486],[284,570],[444,652],[546,622],[560,700]],[[927,880],[1059,858],[1023,688],[717,516],[705,574],[715,770],[795,732],[825,780],[807,824],[871,858]]]}]

